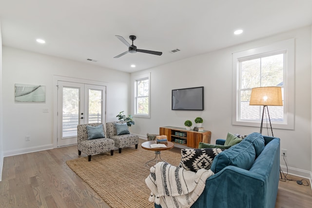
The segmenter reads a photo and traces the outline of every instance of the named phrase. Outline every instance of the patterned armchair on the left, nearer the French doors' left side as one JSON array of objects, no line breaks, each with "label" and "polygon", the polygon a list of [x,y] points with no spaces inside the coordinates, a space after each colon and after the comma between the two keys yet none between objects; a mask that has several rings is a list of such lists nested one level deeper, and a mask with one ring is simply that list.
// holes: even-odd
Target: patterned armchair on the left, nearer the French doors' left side
[{"label": "patterned armchair on the left, nearer the French doors' left side", "polygon": [[[78,155],[81,155],[81,151],[88,155],[88,161],[91,161],[92,154],[98,154],[105,151],[111,151],[111,155],[114,154],[115,142],[110,138],[98,138],[88,140],[87,126],[96,127],[102,123],[92,123],[92,124],[79,124],[77,126],[77,146]],[[103,132],[105,135],[104,125]]]}]

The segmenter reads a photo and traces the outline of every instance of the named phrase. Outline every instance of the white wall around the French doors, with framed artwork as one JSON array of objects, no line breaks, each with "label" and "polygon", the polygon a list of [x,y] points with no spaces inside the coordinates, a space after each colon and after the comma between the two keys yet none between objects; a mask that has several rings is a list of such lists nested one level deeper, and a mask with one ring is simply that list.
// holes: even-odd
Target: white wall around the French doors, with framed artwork
[{"label": "white wall around the French doors, with framed artwork", "polygon": [[[2,48],[3,154],[4,156],[53,147],[53,75],[109,82],[107,121],[128,110],[130,74],[59,57]],[[14,84],[46,86],[45,103],[17,103]],[[42,109],[48,108],[49,113]],[[31,137],[25,141],[25,136]]]}]

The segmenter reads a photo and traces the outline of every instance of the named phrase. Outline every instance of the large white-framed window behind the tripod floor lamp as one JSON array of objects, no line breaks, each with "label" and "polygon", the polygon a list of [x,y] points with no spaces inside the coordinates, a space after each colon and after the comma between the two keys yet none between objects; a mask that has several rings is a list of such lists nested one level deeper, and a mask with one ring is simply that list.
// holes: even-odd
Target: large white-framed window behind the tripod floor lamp
[{"label": "large white-framed window behind the tripod floor lamp", "polygon": [[273,128],[293,129],[294,39],[233,54],[233,124],[259,126],[263,106],[250,106],[254,87],[279,86],[283,106],[268,106]]}]

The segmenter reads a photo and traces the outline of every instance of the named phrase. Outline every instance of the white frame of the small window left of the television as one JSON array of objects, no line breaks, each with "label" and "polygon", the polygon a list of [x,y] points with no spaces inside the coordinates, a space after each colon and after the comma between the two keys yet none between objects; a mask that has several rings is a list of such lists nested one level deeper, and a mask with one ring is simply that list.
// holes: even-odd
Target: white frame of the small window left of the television
[{"label": "white frame of the small window left of the television", "polygon": [[[137,81],[141,81],[144,79],[148,79],[148,114],[140,114],[137,113]],[[137,75],[134,77],[134,116],[135,117],[144,117],[144,118],[150,118],[151,117],[151,73],[143,74],[143,75]]]}]

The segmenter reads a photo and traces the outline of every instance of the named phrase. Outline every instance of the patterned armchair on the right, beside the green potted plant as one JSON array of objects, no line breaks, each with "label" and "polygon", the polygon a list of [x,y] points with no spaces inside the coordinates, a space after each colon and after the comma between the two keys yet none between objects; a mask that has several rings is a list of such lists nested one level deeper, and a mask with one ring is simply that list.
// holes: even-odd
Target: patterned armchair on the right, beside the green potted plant
[{"label": "patterned armchair on the right, beside the green potted plant", "polygon": [[119,153],[121,153],[121,148],[129,147],[131,145],[138,145],[138,136],[135,134],[123,134],[117,135],[117,130],[115,127],[115,123],[123,124],[125,121],[115,121],[115,122],[107,122],[106,123],[106,131],[107,137],[111,138],[115,141],[115,147],[118,148]]}]

